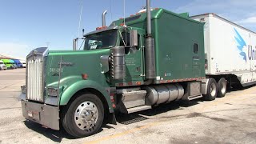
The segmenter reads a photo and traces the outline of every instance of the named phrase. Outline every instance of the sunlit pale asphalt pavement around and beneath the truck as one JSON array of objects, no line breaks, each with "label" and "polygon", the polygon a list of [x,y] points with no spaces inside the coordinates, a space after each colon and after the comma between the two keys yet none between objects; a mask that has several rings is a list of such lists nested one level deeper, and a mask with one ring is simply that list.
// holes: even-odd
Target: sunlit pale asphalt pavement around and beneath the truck
[{"label": "sunlit pale asphalt pavement around and beneath the truck", "polygon": [[2,143],[256,143],[256,86],[230,90],[205,102],[170,102],[117,116],[98,134],[72,138],[22,117],[18,95],[26,69],[0,70],[0,144]]}]

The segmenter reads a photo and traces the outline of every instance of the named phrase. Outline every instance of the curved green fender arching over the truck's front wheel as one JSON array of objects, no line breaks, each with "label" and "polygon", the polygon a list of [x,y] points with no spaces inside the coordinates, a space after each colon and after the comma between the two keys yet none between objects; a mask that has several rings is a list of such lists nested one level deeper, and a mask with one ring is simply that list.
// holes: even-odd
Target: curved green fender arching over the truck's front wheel
[{"label": "curved green fender arching over the truck's front wheel", "polygon": [[70,101],[70,98],[74,96],[74,94],[76,94],[79,90],[83,90],[86,88],[98,90],[106,99],[106,102],[109,106],[110,113],[114,112],[112,103],[110,101],[110,95],[107,93],[104,86],[91,80],[80,80],[78,82],[74,82],[71,86],[67,87],[66,90],[62,92],[62,95],[60,98],[60,106],[66,105]]}]

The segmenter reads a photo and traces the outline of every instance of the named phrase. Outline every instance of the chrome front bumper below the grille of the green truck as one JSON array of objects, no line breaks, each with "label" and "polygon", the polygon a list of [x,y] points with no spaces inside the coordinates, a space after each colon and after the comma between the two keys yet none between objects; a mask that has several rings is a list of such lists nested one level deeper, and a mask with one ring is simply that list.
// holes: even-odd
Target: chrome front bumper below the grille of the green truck
[{"label": "chrome front bumper below the grille of the green truck", "polygon": [[59,110],[57,106],[49,106],[24,100],[21,100],[21,102],[22,114],[26,119],[53,130],[59,130]]}]

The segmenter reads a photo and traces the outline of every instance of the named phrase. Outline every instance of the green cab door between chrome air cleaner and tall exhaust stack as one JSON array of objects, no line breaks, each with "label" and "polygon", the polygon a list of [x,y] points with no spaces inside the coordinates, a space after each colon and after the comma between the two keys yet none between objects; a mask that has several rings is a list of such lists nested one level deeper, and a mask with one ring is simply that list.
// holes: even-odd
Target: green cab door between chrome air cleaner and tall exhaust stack
[{"label": "green cab door between chrome air cleaner and tall exhaust stack", "polygon": [[130,34],[122,32],[120,46],[125,46],[126,82],[142,81],[142,38],[138,34],[138,46],[130,47]]}]

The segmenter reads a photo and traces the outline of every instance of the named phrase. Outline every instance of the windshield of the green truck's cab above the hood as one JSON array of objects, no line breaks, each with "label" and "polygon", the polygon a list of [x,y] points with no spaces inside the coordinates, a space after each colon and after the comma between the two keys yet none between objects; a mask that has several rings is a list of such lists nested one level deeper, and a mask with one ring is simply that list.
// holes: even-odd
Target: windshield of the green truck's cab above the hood
[{"label": "windshield of the green truck's cab above the hood", "polygon": [[84,50],[107,49],[116,45],[118,30],[108,30],[87,35]]}]

